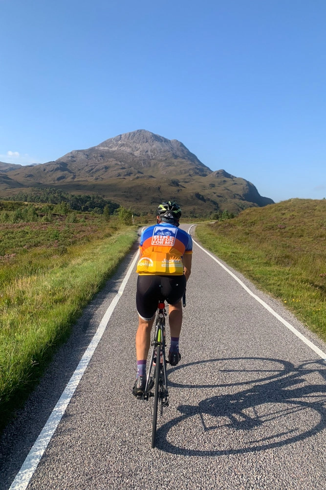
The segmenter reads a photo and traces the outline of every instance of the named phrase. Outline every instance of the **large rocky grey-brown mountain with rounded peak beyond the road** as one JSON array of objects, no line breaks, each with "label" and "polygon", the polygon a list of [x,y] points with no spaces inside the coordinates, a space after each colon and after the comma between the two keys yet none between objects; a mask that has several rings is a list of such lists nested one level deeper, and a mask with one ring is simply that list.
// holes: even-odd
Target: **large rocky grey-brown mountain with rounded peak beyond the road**
[{"label": "large rocky grey-brown mountain with rounded peak beyond the road", "polygon": [[[212,172],[179,141],[143,129],[6,175],[27,189],[55,186],[74,194],[99,193],[138,212],[153,212],[168,199],[195,215],[273,203],[247,180],[224,170]],[[13,192],[18,190],[0,182],[1,196]]]}]

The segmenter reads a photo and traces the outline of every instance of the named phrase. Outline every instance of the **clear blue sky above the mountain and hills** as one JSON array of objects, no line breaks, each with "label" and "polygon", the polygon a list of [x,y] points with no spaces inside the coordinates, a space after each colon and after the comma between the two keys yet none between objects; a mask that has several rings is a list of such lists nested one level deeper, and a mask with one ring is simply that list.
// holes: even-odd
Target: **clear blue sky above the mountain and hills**
[{"label": "clear blue sky above the mountain and hills", "polygon": [[263,196],[326,197],[325,0],[0,0],[0,161],[177,139]]}]

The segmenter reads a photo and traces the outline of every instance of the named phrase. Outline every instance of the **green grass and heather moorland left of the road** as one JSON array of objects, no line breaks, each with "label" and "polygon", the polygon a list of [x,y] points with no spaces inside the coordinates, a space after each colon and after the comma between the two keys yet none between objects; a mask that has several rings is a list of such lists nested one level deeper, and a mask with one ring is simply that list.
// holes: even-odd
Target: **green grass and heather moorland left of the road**
[{"label": "green grass and heather moorland left of the road", "polygon": [[131,215],[0,202],[0,429],[130,250]]}]

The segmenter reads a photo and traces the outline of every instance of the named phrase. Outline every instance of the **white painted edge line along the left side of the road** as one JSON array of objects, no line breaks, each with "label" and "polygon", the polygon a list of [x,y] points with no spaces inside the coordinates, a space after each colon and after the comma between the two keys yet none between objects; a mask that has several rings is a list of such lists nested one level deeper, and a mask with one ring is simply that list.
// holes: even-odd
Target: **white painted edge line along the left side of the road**
[{"label": "white painted edge line along the left side of the road", "polygon": [[65,413],[65,409],[68,406],[68,403],[71,400],[72,395],[74,394],[82,376],[88,366],[89,361],[94,354],[94,351],[101,340],[101,337],[107,327],[109,319],[113,313],[114,308],[116,307],[121,295],[126,287],[130,274],[134,268],[135,262],[138,258],[138,252],[136,252],[135,257],[130,265],[130,268],[127,271],[127,274],[124,277],[124,280],[121,283],[118,293],[112,299],[109,308],[104,314],[97,331],[89,343],[82,359],[80,360],[75,372],[71,376],[68,384],[65,387],[64,392],[62,393],[59,401],[54,407],[50,417],[47,419],[39,437],[35,441],[33,447],[29,451],[25,461],[22,464],[21,469],[17,473],[15,480],[12,482],[9,490],[25,490],[27,485],[30,482],[40,460],[43,456],[45,449],[47,448],[48,443],[50,442],[58,424]]}]

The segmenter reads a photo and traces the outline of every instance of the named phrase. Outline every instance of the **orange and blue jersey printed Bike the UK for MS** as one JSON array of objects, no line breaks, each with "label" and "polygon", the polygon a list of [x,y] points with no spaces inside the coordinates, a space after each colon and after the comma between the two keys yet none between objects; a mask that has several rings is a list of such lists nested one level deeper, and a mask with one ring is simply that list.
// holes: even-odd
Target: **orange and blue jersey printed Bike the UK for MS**
[{"label": "orange and blue jersey printed Bike the UK for MS", "polygon": [[139,248],[139,275],[182,275],[182,257],[193,253],[193,241],[186,231],[170,223],[160,223],[143,231]]}]

